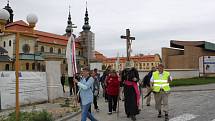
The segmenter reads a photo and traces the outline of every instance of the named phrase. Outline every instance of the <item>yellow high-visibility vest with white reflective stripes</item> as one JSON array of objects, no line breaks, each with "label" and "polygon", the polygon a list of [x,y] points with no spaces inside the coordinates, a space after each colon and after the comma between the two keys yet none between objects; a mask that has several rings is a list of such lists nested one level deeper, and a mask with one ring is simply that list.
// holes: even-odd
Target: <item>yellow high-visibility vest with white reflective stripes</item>
[{"label": "yellow high-visibility vest with white reflective stripes", "polygon": [[170,86],[168,83],[168,78],[170,76],[169,72],[163,71],[163,76],[160,78],[159,71],[153,72],[153,91],[154,92],[160,92],[161,89],[163,89],[165,92],[170,91]]}]

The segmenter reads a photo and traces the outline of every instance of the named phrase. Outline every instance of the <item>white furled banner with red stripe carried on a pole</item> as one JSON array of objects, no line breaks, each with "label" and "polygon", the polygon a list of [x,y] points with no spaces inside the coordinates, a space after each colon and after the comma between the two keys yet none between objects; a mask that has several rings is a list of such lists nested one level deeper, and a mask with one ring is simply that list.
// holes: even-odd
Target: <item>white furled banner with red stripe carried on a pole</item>
[{"label": "white furled banner with red stripe carried on a pole", "polygon": [[66,58],[67,58],[67,64],[68,64],[68,76],[73,77],[77,73],[77,65],[76,65],[75,39],[72,34],[69,37],[69,40],[66,46]]}]

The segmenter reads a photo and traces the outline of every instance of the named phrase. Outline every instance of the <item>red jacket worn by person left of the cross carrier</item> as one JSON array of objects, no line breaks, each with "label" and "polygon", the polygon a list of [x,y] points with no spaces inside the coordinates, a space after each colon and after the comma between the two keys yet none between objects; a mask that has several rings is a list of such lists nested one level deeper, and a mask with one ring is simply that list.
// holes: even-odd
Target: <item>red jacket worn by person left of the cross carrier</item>
[{"label": "red jacket worn by person left of the cross carrier", "polygon": [[107,84],[107,94],[108,95],[119,95],[119,77],[118,76],[111,76],[109,75],[106,79]]}]

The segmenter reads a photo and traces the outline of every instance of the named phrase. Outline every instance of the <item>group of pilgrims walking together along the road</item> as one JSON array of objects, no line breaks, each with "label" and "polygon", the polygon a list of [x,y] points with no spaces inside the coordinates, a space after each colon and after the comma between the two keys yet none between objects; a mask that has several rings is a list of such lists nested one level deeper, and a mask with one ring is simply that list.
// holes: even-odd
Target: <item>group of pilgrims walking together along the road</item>
[{"label": "group of pilgrims walking together along the road", "polygon": [[[168,120],[169,82],[172,78],[170,73],[164,71],[163,68],[162,64],[159,64],[156,68],[153,67],[143,79],[140,79],[138,70],[130,63],[119,72],[108,66],[101,76],[97,69],[91,71],[88,67],[83,68],[81,76],[73,79],[79,90],[77,95],[80,97],[81,121],[86,121],[87,118],[91,121],[98,121],[91,114],[91,103],[94,104],[94,109],[99,112],[97,104],[99,95],[102,95],[105,102],[108,103],[107,115],[119,113],[118,106],[119,100],[121,100],[124,102],[127,118],[136,121],[136,115],[141,111],[140,99],[143,87],[147,89],[145,96],[147,106],[150,106],[151,92],[153,92],[155,109],[158,111],[157,117],[162,117],[163,110],[164,118]],[[100,85],[102,89],[100,89]],[[103,90],[101,91],[103,94],[99,94],[100,90]],[[162,110],[161,106],[163,106]]]}]

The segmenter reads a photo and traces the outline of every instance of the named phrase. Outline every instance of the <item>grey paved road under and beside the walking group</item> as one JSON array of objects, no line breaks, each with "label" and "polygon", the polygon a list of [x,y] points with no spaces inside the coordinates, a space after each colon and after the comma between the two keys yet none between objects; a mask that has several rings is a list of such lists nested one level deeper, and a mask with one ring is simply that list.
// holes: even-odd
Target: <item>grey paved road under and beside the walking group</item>
[{"label": "grey paved road under and beside the walking group", "polygon": [[[99,99],[99,108],[100,112],[94,111],[99,121],[131,121],[124,113],[122,101],[118,117],[117,114],[107,115],[107,103],[103,98]],[[172,92],[169,97],[169,110],[170,121],[215,121],[215,90]],[[80,117],[81,115],[78,115],[69,121],[80,121]],[[137,115],[137,121],[164,121],[164,118],[157,118],[154,99],[151,106],[144,104],[141,113]]]}]

